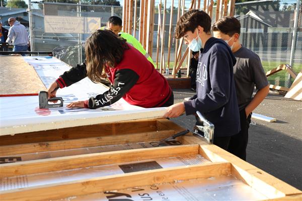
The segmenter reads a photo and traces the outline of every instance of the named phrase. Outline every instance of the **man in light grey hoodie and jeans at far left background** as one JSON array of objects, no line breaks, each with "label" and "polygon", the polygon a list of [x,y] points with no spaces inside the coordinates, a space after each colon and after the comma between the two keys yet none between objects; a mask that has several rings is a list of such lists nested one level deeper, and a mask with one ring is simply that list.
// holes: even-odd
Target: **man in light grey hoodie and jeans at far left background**
[{"label": "man in light grey hoodie and jeans at far left background", "polygon": [[[30,42],[24,25],[21,25],[15,18],[9,18],[9,24],[11,28],[6,42],[13,42],[13,52],[27,51]],[[22,55],[24,56],[25,54]]]}]

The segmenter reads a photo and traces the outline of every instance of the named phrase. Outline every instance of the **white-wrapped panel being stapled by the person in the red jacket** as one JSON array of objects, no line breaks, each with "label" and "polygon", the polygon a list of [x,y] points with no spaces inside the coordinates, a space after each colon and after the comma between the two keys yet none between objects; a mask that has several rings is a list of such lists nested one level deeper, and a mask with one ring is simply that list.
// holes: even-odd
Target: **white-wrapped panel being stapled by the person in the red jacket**
[{"label": "white-wrapped panel being stapled by the person in the red jacket", "polygon": [[[24,60],[34,67],[46,87],[70,68],[67,64],[52,57],[28,56],[24,57]],[[63,98],[64,107],[50,109],[39,109],[38,96],[0,97],[0,135],[157,118],[165,114],[165,108],[144,109],[129,105],[123,98],[111,106],[97,110],[66,108],[66,105],[71,102],[86,100],[106,90],[108,88],[105,85],[96,84],[88,78],[84,78],[69,87],[58,89],[57,96]],[[78,121],[71,122],[70,120]]]}]

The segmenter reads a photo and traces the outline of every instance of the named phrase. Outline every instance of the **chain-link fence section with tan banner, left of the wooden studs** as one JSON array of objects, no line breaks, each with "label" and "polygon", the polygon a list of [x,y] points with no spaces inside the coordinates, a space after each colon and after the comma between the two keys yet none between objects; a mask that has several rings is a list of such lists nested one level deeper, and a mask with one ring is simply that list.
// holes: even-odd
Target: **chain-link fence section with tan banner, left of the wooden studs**
[{"label": "chain-link fence section with tan banner, left of the wooden studs", "polygon": [[[122,7],[29,2],[33,51],[53,51],[74,66],[85,60],[84,43],[111,16],[122,18]],[[32,20],[32,21],[31,21]]]}]

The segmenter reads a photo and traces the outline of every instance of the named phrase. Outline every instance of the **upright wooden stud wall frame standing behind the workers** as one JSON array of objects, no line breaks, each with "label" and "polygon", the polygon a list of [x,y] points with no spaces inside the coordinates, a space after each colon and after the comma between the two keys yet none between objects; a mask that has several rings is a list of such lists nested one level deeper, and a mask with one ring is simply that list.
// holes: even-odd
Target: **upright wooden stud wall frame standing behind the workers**
[{"label": "upright wooden stud wall frame standing behind the workers", "polygon": [[[131,34],[132,32],[132,20],[130,20],[133,16],[133,2],[136,4],[137,1],[133,0],[125,0],[124,3],[124,13],[123,13],[123,23],[124,23],[124,31]],[[228,4],[229,2],[229,4]],[[209,16],[213,17],[213,0],[204,1],[203,4],[203,11],[207,12]],[[158,21],[158,36],[157,36],[157,54],[156,58],[153,58],[156,62],[157,69],[160,70],[161,73],[165,72],[165,68],[170,66],[171,56],[171,41],[172,41],[172,25],[173,25],[173,9],[170,12],[170,16],[166,16],[167,10],[167,0],[160,1],[160,4],[157,5],[159,9],[159,21]],[[174,0],[171,1],[171,8],[174,6]],[[191,0],[190,9],[200,9],[200,0]],[[134,6],[136,7],[136,5]],[[177,18],[179,19],[181,15],[184,14],[184,7],[185,7],[185,0],[178,1],[178,13]],[[161,18],[161,8],[164,9],[163,17]],[[142,44],[143,48],[146,52],[152,57],[152,50],[153,50],[153,32],[154,32],[154,14],[155,11],[155,1],[140,1],[140,27],[139,27],[139,42]],[[218,0],[217,2],[217,9],[215,12],[215,21],[217,21],[220,17],[230,15],[233,16],[235,11],[235,0]],[[134,16],[136,16],[136,9],[134,9]],[[167,14],[168,15],[168,14]],[[166,27],[166,17],[170,17],[170,24],[169,24],[169,37],[168,37],[168,57],[165,58],[165,27]],[[135,32],[135,28],[133,29]],[[178,70],[181,68],[183,62],[187,58],[188,61],[186,62],[187,67],[190,65],[190,51],[188,48],[183,52],[182,50],[183,40],[176,40],[175,41],[175,59],[174,59],[174,66],[172,71],[172,77],[175,78]],[[159,58],[160,57],[160,58]],[[166,62],[168,65],[166,66]],[[187,73],[187,77],[189,74]]]}]

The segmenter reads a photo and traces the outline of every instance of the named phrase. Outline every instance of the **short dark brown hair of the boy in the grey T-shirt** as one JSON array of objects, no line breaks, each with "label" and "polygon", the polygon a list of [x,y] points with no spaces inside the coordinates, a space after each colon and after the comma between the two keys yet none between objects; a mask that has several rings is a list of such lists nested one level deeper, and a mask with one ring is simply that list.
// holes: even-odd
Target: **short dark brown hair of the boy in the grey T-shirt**
[{"label": "short dark brown hair of the boy in the grey T-shirt", "polygon": [[212,31],[219,31],[223,34],[233,36],[234,34],[240,34],[240,22],[234,17],[226,16],[219,19],[212,26]]}]

